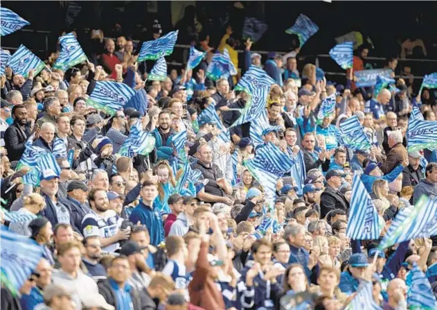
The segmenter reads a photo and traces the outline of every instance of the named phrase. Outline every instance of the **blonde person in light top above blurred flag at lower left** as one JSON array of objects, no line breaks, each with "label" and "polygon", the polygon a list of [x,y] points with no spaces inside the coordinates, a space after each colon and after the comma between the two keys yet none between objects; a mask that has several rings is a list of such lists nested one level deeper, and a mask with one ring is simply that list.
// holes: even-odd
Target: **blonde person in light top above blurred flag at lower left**
[{"label": "blonde person in light top above blurred flag at lower left", "polygon": [[9,225],[9,230],[22,234],[24,236],[31,236],[32,232],[29,229],[29,223],[37,218],[37,214],[42,212],[46,207],[46,200],[39,195],[39,193],[31,193],[24,197],[23,207],[15,212],[16,215],[26,217],[26,221],[12,222]]}]

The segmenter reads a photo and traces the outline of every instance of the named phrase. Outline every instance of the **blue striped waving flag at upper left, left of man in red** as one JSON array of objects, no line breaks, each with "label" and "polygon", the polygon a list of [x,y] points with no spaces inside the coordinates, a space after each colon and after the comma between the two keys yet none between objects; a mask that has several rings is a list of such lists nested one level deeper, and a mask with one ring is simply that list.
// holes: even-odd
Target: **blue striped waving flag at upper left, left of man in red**
[{"label": "blue striped waving flag at upper left, left of man in red", "polygon": [[53,64],[54,69],[66,71],[76,64],[80,64],[80,62],[88,60],[87,55],[85,55],[82,46],[80,46],[73,33],[63,35],[59,40],[62,48],[59,57]]}]

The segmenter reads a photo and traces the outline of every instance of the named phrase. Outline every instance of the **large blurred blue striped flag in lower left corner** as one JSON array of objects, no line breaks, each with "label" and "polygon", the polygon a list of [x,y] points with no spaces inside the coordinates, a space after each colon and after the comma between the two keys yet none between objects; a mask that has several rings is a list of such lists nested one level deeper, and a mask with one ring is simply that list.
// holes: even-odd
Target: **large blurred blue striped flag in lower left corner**
[{"label": "large blurred blue striped flag in lower left corner", "polygon": [[33,239],[9,232],[1,225],[1,284],[17,293],[35,270],[44,248]]}]

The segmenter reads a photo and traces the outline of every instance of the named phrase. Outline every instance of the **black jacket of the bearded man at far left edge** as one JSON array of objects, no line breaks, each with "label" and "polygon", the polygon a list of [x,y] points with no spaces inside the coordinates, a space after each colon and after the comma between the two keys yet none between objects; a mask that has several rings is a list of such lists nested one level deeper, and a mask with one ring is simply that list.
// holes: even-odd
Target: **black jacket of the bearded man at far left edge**
[{"label": "black jacket of the bearded man at far left edge", "polygon": [[8,150],[8,157],[11,162],[19,160],[26,148],[26,141],[30,137],[30,128],[28,125],[24,126],[24,130],[14,121],[5,132],[5,146]]}]

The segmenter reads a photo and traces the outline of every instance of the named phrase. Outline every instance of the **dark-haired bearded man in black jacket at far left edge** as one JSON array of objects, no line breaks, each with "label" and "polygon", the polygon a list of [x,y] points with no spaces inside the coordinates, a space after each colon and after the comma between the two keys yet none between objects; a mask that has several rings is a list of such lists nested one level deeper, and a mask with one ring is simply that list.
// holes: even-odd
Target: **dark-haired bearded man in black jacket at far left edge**
[{"label": "dark-haired bearded man in black jacket at far left edge", "polygon": [[5,146],[8,150],[9,160],[15,161],[24,153],[25,144],[30,136],[30,126],[27,121],[27,109],[24,105],[12,107],[12,115],[15,120],[5,132]]}]

